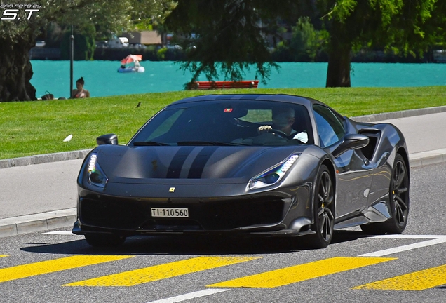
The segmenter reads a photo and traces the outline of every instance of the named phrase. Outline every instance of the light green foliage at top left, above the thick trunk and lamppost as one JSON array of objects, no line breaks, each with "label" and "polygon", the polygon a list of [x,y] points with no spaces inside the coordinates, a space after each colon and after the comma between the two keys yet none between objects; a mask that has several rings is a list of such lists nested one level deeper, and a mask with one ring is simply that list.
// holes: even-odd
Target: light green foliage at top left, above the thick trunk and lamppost
[{"label": "light green foliage at top left, above the thick trunk and lamppost", "polygon": [[30,20],[26,20],[27,12],[24,10],[19,11],[20,20],[1,20],[2,39],[13,39],[31,29],[38,33],[49,22],[92,24],[112,32],[122,32],[135,29],[141,22],[160,22],[166,12],[175,8],[175,1],[166,0],[24,0],[20,3],[39,4],[41,8],[38,13],[33,13]]}]

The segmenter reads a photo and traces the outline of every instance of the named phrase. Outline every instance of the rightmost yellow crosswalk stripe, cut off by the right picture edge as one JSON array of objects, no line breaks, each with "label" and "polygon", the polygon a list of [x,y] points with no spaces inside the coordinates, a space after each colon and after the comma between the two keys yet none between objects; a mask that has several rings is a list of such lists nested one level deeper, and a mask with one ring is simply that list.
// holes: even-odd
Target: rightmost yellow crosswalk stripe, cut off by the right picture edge
[{"label": "rightmost yellow crosswalk stripe, cut off by the right picture edge", "polygon": [[356,290],[426,290],[446,284],[446,265],[415,271],[373,283],[357,286]]}]

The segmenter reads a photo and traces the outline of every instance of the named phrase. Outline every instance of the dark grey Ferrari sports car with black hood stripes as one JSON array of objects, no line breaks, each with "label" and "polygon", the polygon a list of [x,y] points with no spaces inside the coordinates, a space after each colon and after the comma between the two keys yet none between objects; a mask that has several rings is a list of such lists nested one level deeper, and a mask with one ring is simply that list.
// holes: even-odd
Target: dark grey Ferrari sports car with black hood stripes
[{"label": "dark grey Ferrari sports car with black hood stripes", "polygon": [[[161,109],[126,145],[97,137],[74,234],[255,235],[325,248],[335,229],[400,234],[409,215],[403,133],[296,95],[203,95]],[[156,169],[154,169],[156,163]]]}]

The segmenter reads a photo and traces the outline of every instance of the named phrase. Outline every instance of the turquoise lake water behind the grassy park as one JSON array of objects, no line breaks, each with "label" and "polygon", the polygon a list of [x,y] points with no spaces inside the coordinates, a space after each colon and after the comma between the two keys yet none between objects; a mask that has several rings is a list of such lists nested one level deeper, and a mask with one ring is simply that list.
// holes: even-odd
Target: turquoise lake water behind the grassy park
[{"label": "turquoise lake water behind the grassy park", "polygon": [[[34,70],[31,83],[37,90],[37,97],[46,90],[55,97],[69,96],[69,61],[31,62]],[[170,61],[142,61],[144,73],[121,74],[117,72],[119,65],[112,61],[75,61],[74,81],[83,76],[85,88],[92,97],[97,97],[183,90],[184,83],[191,79],[191,74],[183,73],[179,65]],[[283,62],[280,66],[278,72],[271,71],[266,85],[259,83],[259,88],[325,87],[327,63]],[[352,69],[352,87],[446,85],[446,64],[353,63]],[[247,72],[245,79],[251,80],[254,76],[253,71]],[[202,76],[199,80],[206,79]]]}]

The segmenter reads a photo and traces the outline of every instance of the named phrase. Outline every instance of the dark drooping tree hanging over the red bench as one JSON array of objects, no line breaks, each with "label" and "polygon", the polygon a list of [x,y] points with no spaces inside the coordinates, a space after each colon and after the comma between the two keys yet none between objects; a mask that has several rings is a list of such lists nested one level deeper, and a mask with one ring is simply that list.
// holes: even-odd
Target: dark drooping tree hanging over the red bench
[{"label": "dark drooping tree hanging over the red bench", "polygon": [[271,60],[265,36],[276,28],[274,15],[292,13],[297,1],[283,0],[182,0],[168,16],[165,26],[184,37],[186,61],[181,69],[196,81],[203,73],[215,80],[218,69],[224,79],[241,80],[254,68],[256,79],[269,78]]}]

